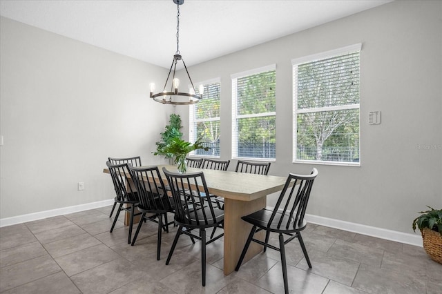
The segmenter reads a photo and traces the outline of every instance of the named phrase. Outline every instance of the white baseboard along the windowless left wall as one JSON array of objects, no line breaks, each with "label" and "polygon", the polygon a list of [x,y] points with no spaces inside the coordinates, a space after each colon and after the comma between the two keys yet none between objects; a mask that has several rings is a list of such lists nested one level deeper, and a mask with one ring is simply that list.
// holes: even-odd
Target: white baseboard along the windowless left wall
[{"label": "white baseboard along the windowless left wall", "polygon": [[0,219],[0,228],[3,226],[12,226],[13,224],[22,224],[23,222],[32,222],[38,219],[46,219],[46,217],[56,217],[57,215],[67,215],[69,213],[78,213],[79,211],[100,208],[112,205],[114,199],[68,206],[52,210],[40,211],[38,213],[29,213],[28,215],[17,215],[17,217],[5,217]]}]

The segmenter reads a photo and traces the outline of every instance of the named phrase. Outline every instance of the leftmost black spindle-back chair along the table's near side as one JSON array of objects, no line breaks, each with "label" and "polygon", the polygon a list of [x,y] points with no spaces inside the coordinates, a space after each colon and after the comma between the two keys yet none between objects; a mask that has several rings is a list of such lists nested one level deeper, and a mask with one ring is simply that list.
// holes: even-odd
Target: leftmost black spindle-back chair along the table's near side
[{"label": "leftmost black spindle-back chair along the table's near side", "polygon": [[126,178],[126,175],[130,175],[128,164],[111,164],[111,162],[107,161],[106,166],[108,166],[109,173],[111,173],[113,186],[115,188],[115,193],[117,194],[115,197],[115,202],[119,204],[119,207],[117,208],[117,215],[115,215],[115,219],[113,220],[111,227],[111,233],[113,232],[113,228],[117,223],[119,213],[122,211],[127,211],[130,213],[128,244],[131,244],[133,217],[136,215],[141,215],[140,212],[135,212],[135,209],[140,202],[138,199],[138,193],[135,187],[133,187]]}]

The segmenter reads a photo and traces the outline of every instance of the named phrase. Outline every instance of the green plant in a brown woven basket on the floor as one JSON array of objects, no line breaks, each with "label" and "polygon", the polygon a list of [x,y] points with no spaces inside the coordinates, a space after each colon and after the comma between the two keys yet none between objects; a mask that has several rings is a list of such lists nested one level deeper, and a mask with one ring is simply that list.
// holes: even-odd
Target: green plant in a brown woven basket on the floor
[{"label": "green plant in a brown woven basket on the floor", "polygon": [[442,210],[427,207],[430,210],[419,212],[422,214],[413,220],[413,231],[416,226],[421,230],[425,252],[442,264]]}]

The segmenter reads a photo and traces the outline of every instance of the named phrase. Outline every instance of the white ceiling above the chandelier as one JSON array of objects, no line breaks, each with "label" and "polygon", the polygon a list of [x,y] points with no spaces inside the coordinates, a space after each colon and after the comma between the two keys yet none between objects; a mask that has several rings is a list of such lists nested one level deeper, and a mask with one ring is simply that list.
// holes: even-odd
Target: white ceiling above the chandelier
[{"label": "white ceiling above the chandelier", "polygon": [[[180,53],[192,66],[391,1],[185,0]],[[0,14],[168,69],[177,49],[172,0],[0,0]]]}]

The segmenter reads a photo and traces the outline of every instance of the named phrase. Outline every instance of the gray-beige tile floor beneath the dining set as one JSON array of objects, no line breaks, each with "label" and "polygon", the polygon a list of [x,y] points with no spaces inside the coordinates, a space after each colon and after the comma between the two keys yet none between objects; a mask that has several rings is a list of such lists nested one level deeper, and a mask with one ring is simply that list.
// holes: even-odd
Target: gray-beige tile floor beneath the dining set
[{"label": "gray-beige tile floor beneath the dining set", "polygon": [[[180,238],[164,263],[176,228],[163,234],[156,260],[155,224],[143,225],[135,246],[111,207],[0,228],[0,293],[283,293],[280,257],[271,249],[222,273],[222,238],[207,247],[201,286],[200,246]],[[134,232],[135,233],[135,229]],[[442,264],[423,248],[309,224],[302,234],[313,268],[297,240],[287,245],[291,293],[442,293]],[[277,241],[277,239],[273,239]]]}]

